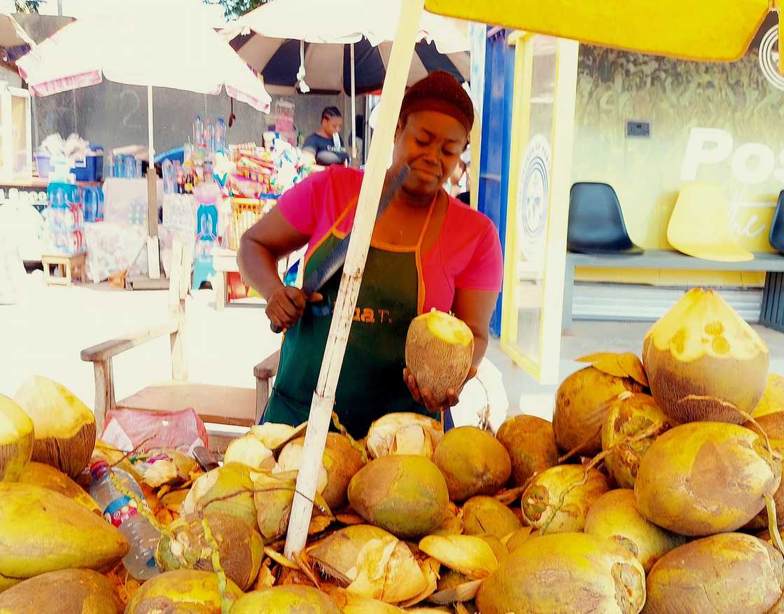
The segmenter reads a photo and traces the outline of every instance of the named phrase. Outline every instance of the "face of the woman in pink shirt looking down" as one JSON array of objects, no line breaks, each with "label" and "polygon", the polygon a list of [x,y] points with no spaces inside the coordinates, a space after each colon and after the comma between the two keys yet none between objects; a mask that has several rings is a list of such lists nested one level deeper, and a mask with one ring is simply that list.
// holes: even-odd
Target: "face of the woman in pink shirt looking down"
[{"label": "face of the woman in pink shirt looking down", "polygon": [[414,196],[432,196],[452,174],[466,148],[463,124],[437,111],[419,111],[397,122],[393,166],[411,169],[403,189]]}]

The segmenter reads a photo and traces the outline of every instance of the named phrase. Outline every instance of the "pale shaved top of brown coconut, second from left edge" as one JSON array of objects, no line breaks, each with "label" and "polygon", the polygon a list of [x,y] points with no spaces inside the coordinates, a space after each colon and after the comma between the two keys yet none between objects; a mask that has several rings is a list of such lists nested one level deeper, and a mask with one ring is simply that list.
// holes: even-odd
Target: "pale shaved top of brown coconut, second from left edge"
[{"label": "pale shaved top of brown coconut, second from left edge", "polygon": [[60,383],[34,376],[14,398],[35,425],[35,438],[71,438],[85,424],[95,423],[93,411]]}]

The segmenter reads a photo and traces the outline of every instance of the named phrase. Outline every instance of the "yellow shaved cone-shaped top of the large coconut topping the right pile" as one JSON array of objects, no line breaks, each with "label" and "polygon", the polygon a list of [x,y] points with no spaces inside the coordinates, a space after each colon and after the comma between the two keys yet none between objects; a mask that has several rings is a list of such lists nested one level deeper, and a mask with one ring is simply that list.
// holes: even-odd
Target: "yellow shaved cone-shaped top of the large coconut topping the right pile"
[{"label": "yellow shaved cone-shaped top of the large coconut topping the right pile", "polygon": [[768,346],[751,326],[716,292],[689,290],[648,331],[656,349],[669,350],[682,362],[703,356],[753,358]]}]

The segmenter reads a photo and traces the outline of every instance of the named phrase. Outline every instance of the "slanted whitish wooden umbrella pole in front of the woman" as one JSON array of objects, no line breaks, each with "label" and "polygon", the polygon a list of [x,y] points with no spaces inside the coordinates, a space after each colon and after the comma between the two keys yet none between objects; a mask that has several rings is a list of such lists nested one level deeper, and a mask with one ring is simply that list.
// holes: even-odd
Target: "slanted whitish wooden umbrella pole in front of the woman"
[{"label": "slanted whitish wooden umbrella pole in front of the woman", "polygon": [[405,84],[408,81],[408,70],[414,55],[414,44],[423,5],[424,0],[403,0],[401,3],[397,35],[392,45],[387,78],[384,80],[379,122],[370,145],[368,165],[359,193],[357,215],[351,232],[346,263],[343,265],[343,277],[340,280],[335,310],[332,314],[332,326],[329,329],[324,360],[321,361],[318,385],[310,405],[303,458],[296,480],[289,532],[286,535],[285,555],[289,558],[302,550],[307,540],[316,482],[321,468],[321,456],[324,454],[329,423],[332,420],[332,407],[335,405],[340,367],[343,365],[348,334],[351,322],[354,320],[354,307],[357,303],[362,272],[365,270],[365,260],[368,257],[368,247],[387,173],[397,116],[400,114]]}]

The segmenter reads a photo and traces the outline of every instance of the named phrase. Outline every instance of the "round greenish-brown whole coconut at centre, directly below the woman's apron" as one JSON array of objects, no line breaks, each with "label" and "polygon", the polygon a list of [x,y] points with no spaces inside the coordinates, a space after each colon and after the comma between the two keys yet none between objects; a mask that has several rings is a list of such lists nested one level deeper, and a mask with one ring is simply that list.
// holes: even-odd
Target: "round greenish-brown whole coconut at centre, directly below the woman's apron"
[{"label": "round greenish-brown whole coconut at centre, directly below the woman's apron", "polygon": [[449,493],[436,465],[423,456],[382,456],[362,467],[348,485],[351,507],[366,521],[401,539],[437,529]]}]

